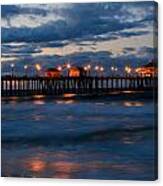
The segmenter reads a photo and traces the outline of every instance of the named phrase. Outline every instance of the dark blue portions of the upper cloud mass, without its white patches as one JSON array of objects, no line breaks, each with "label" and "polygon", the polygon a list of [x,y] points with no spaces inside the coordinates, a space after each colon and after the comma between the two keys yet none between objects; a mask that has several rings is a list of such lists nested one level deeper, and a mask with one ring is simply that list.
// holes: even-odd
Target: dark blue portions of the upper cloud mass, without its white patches
[{"label": "dark blue portions of the upper cloud mass, without its white patches", "polygon": [[[145,11],[138,20],[131,12],[125,9],[144,7]],[[52,9],[51,13],[63,16],[64,20],[49,21],[35,28],[32,27],[2,27],[2,42],[41,42],[55,40],[73,39],[94,39],[95,36],[107,33],[122,31],[124,29],[139,28],[144,26],[144,20],[153,20],[153,12],[148,12],[147,8],[153,6],[153,2],[143,3],[94,3],[94,4],[72,4],[71,8]],[[53,5],[52,5],[53,7]],[[33,14],[47,16],[48,9],[20,6],[2,6],[2,17],[10,21],[12,16],[20,14]],[[131,15],[130,15],[131,14]],[[121,20],[121,17],[124,17]],[[130,20],[127,18],[130,17]],[[131,21],[132,20],[132,21]],[[121,33],[122,36],[139,35],[140,33]],[[145,34],[141,33],[141,34]],[[108,36],[112,39],[113,36]],[[100,38],[100,36],[99,36]],[[103,38],[100,38],[103,39]],[[106,39],[106,38],[105,38]],[[113,39],[116,39],[113,37]]]}]

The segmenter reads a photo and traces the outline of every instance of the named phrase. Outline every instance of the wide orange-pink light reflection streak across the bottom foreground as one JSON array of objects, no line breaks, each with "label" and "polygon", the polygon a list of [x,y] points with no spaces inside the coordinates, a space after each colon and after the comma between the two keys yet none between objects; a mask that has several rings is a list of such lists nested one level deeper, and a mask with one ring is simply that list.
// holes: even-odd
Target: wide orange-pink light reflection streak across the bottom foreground
[{"label": "wide orange-pink light reflection streak across the bottom foreground", "polygon": [[[68,155],[70,156],[70,155]],[[47,157],[48,158],[48,157]],[[109,160],[109,158],[108,158]],[[50,175],[54,178],[78,178],[80,173],[93,173],[98,171],[110,172],[117,171],[124,174],[127,173],[143,173],[141,164],[126,164],[125,162],[110,162],[110,161],[72,161],[60,158],[58,160],[41,159],[40,157],[33,157],[25,160],[21,165],[30,174],[37,175],[38,177]]]}]

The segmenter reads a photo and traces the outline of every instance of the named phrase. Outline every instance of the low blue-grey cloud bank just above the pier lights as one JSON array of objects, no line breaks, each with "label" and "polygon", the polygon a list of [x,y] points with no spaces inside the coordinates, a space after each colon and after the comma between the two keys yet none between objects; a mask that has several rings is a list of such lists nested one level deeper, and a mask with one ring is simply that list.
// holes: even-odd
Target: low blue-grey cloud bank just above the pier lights
[{"label": "low blue-grey cloud bank just above the pier lights", "polygon": [[[131,64],[135,67],[138,65],[146,64],[151,60],[151,54],[155,54],[155,50],[149,47],[143,47],[144,50],[148,51],[143,54],[122,54],[118,57],[114,57],[111,52],[100,51],[100,52],[78,52],[69,54],[67,56],[57,56],[57,55],[41,55],[41,56],[22,56],[21,58],[15,59],[13,61],[6,61],[3,66],[9,67],[11,62],[17,63],[17,66],[23,68],[25,64],[34,65],[40,63],[44,68],[57,66],[63,64],[67,61],[70,61],[74,65],[84,65],[84,64],[101,64],[106,68],[109,68],[113,63],[118,67],[124,67],[126,64]],[[138,49],[129,49],[128,50],[138,50],[142,51],[142,48]],[[150,51],[150,52],[149,52]],[[151,53],[152,52],[152,53]]]}]

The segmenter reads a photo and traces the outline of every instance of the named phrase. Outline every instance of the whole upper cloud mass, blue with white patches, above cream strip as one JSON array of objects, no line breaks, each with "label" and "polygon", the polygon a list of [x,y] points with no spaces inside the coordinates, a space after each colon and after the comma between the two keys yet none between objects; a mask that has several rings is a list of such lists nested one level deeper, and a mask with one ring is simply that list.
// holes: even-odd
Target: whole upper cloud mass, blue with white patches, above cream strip
[{"label": "whole upper cloud mass, blue with white patches, above cream strip", "polygon": [[[111,32],[142,27],[144,21],[153,20],[154,5],[153,2],[5,5],[2,19],[7,26],[2,25],[2,42],[116,39]],[[129,37],[145,33],[120,34]]]}]

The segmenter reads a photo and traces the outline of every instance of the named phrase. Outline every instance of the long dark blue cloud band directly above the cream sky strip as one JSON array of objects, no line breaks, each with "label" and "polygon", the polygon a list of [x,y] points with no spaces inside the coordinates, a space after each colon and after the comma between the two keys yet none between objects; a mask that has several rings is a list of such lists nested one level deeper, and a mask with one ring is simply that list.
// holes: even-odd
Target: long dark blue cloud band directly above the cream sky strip
[{"label": "long dark blue cloud band directly above the cream sky strip", "polygon": [[[65,21],[59,20],[55,23],[50,22],[36,28],[2,28],[2,42],[41,42],[66,39],[73,40],[78,38],[80,40],[95,40],[93,38],[95,35],[107,33],[108,31],[113,32],[129,29],[137,26],[137,23],[118,23],[113,20],[109,21],[108,24],[103,24],[102,21],[97,22],[96,20],[92,20],[91,25],[90,22],[87,21],[87,23],[78,23],[75,26],[71,26]],[[99,36],[99,39],[102,38]],[[110,39],[116,38],[111,37]]]}]

